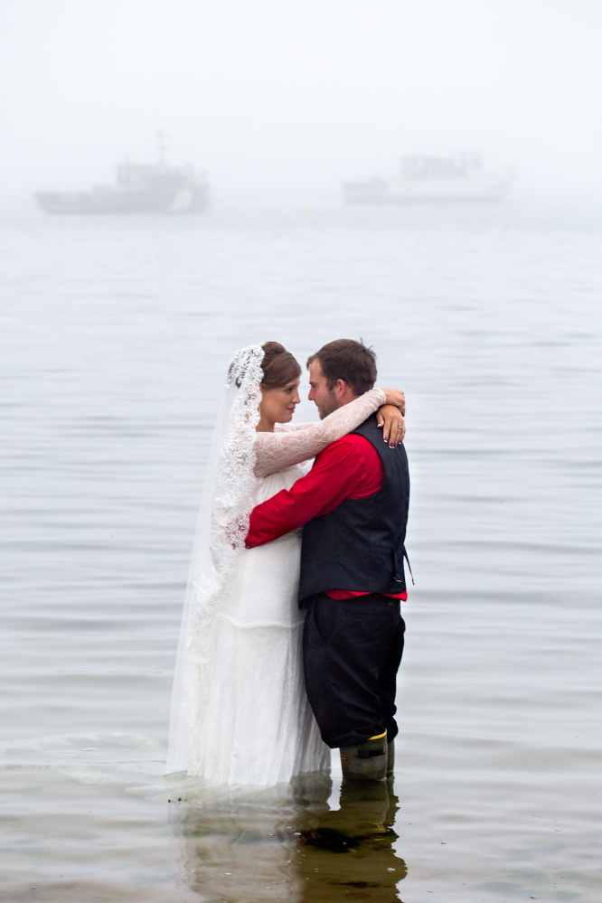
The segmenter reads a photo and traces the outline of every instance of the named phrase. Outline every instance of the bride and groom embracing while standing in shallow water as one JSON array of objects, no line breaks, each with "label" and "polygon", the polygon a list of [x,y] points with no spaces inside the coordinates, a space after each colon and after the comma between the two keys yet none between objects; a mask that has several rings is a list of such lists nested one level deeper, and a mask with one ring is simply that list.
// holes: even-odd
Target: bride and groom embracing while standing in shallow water
[{"label": "bride and groom embracing while standing in shallow water", "polygon": [[292,354],[268,342],[230,363],[184,605],[169,772],[277,785],[329,767],[339,748],[345,778],[392,774],[404,397],[372,388],[375,356],[361,342],[328,343],[307,366],[320,421],[294,424]]}]

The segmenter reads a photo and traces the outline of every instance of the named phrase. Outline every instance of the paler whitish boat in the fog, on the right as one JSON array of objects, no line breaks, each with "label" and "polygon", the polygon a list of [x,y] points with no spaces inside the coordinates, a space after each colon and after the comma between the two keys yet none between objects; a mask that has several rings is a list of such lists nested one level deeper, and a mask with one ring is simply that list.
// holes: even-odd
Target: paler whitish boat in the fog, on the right
[{"label": "paler whitish boat in the fog, on the right", "polygon": [[344,182],[346,203],[502,201],[514,179],[508,167],[489,172],[476,154],[402,156],[400,174]]}]

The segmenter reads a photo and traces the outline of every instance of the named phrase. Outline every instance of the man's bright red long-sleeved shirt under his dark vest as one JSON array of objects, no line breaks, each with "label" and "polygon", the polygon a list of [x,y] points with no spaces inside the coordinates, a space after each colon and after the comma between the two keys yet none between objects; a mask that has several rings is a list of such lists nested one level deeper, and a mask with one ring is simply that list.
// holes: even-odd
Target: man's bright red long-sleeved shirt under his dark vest
[{"label": "man's bright red long-sleeved shirt under his dark vest", "polygon": [[[321,452],[315,465],[290,489],[283,489],[253,509],[249,520],[248,549],[276,540],[331,511],[345,499],[361,499],[381,488],[384,471],[376,448],[363,436],[351,433]],[[366,596],[365,592],[332,589],[336,599]],[[405,600],[407,593],[394,598]]]}]

